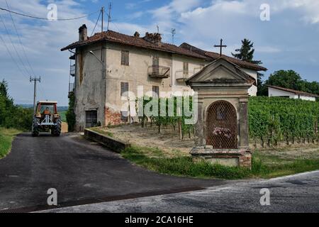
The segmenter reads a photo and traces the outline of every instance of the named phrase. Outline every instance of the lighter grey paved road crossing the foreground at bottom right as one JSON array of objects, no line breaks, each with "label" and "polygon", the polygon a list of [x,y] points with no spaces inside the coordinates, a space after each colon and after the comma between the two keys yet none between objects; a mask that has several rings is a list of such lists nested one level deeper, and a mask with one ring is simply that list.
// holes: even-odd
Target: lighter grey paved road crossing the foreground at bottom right
[{"label": "lighter grey paved road crossing the foreground at bottom right", "polygon": [[[269,189],[270,206],[260,205],[260,190]],[[47,212],[319,212],[319,171],[277,179],[236,182],[184,192]]]}]

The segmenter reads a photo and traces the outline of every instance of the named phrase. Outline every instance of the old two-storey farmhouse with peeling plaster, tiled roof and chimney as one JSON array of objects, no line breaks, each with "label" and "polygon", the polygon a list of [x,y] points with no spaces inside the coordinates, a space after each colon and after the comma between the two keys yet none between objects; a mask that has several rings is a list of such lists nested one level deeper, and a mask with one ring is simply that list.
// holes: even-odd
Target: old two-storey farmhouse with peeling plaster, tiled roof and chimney
[{"label": "old two-storey farmhouse with peeling plaster, tiled roof and chimney", "polygon": [[[180,46],[162,42],[159,33],[141,37],[114,31],[87,36],[85,25],[79,28],[79,40],[62,48],[72,52],[69,92],[75,94],[76,130],[101,123],[119,124],[126,121],[123,109],[125,92],[180,92],[191,94],[185,80],[220,57],[187,43]],[[257,72],[266,68],[223,55],[228,61],[257,80]],[[255,84],[256,85],[256,84]],[[252,86],[250,96],[257,94]]]}]

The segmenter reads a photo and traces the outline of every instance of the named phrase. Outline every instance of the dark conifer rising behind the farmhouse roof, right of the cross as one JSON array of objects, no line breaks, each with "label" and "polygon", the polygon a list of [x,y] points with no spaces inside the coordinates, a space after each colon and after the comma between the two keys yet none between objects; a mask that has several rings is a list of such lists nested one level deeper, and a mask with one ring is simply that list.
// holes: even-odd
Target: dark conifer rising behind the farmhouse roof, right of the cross
[{"label": "dark conifer rising behind the farmhouse roof, right of the cross", "polygon": [[237,53],[233,53],[232,55],[233,57],[236,57],[239,60],[243,60],[245,62],[251,62],[257,65],[262,65],[261,61],[256,61],[253,60],[254,59],[254,43],[252,43],[252,41],[247,40],[247,38],[245,38],[244,40],[242,40],[242,47],[240,49],[236,49],[235,52]]}]

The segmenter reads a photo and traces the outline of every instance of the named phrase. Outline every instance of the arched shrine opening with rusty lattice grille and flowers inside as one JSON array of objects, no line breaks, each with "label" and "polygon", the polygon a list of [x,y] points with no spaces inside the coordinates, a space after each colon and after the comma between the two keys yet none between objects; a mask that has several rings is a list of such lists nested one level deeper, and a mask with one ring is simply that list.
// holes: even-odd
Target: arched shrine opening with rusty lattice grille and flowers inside
[{"label": "arched shrine opening with rusty lattice grille and flowers inside", "polygon": [[206,145],[215,149],[237,149],[237,114],[228,101],[216,101],[207,111]]}]

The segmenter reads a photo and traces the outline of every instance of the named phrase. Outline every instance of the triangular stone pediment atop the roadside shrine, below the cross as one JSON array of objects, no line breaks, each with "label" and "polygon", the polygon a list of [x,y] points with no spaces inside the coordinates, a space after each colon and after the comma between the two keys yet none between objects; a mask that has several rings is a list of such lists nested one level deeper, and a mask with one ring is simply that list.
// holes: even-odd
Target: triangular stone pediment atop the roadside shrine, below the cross
[{"label": "triangular stone pediment atop the roadside shrine, below the cross", "polygon": [[200,72],[186,80],[186,84],[193,83],[216,83],[216,84],[254,84],[254,77],[242,71],[240,67],[229,62],[223,57],[218,58],[211,64],[206,65]]}]

